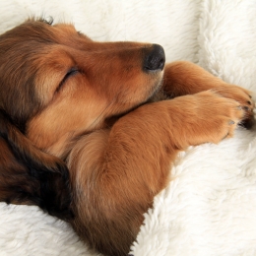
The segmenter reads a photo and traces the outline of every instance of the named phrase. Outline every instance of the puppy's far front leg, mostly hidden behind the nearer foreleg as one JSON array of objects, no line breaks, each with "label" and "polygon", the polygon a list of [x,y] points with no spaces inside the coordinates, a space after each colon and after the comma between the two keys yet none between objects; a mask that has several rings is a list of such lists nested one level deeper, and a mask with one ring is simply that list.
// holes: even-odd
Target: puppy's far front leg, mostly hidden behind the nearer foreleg
[{"label": "puppy's far front leg, mostly hidden behind the nearer foreleg", "polygon": [[253,123],[254,101],[251,92],[241,87],[225,83],[201,68],[188,61],[176,61],[166,64],[163,76],[163,92],[170,98],[175,96],[194,95],[203,91],[214,92],[230,97],[240,102],[246,110],[241,123],[250,128]]}]

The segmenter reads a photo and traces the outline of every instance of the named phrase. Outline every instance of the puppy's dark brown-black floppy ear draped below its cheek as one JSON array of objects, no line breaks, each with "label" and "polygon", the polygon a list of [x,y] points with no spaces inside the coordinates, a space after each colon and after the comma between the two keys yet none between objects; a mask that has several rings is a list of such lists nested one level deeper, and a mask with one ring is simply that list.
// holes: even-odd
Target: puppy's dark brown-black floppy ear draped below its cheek
[{"label": "puppy's dark brown-black floppy ear draped below its cheek", "polygon": [[0,201],[37,205],[67,220],[71,196],[64,161],[36,149],[0,109]]}]

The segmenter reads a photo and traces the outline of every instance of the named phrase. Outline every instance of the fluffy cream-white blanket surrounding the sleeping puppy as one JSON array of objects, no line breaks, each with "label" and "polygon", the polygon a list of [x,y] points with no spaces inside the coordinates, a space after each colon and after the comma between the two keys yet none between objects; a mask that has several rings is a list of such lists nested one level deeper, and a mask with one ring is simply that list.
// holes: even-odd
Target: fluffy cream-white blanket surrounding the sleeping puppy
[{"label": "fluffy cream-white blanket surrounding the sleeping puppy", "polygon": [[[0,32],[32,16],[72,22],[96,40],[160,43],[167,61],[193,61],[256,91],[255,0],[0,1]],[[256,255],[256,129],[190,148],[171,176],[145,214],[132,254]],[[0,255],[97,254],[38,208],[1,203]]]}]

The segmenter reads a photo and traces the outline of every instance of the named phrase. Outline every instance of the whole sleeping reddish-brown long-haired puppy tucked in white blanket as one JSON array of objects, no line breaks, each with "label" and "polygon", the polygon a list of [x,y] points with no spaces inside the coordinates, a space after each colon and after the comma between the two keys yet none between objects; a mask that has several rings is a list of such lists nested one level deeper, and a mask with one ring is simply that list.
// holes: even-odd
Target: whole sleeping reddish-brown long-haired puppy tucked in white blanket
[{"label": "whole sleeping reddish-brown long-haired puppy tucked in white blanket", "polygon": [[0,200],[126,255],[180,151],[250,126],[248,91],[158,44],[96,42],[29,20],[0,36]]}]

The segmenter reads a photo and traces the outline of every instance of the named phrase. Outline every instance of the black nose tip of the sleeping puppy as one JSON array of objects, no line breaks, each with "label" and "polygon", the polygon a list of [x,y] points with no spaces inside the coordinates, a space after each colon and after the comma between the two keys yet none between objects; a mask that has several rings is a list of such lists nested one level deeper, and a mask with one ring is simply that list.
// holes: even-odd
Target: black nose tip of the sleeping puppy
[{"label": "black nose tip of the sleeping puppy", "polygon": [[165,63],[165,54],[159,44],[153,44],[153,49],[145,56],[143,69],[146,72],[162,70]]}]

